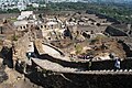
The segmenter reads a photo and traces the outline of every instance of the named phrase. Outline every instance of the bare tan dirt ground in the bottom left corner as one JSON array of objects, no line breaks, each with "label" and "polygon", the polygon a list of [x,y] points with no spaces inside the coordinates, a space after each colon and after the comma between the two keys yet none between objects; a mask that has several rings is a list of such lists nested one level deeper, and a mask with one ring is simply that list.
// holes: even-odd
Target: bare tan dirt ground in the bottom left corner
[{"label": "bare tan dirt ground in the bottom left corner", "polygon": [[[2,59],[0,58],[0,62]],[[0,88],[42,88],[31,82],[23,74],[18,73],[6,66],[4,72],[8,75],[8,79],[0,84]]]}]

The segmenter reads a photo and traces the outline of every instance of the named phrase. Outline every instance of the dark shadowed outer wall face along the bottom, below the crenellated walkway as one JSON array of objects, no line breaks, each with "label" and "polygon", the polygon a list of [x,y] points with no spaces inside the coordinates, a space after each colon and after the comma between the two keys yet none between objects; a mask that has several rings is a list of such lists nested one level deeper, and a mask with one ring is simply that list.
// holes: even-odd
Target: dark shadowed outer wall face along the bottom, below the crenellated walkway
[{"label": "dark shadowed outer wall face along the bottom, below the crenellated walkway", "polygon": [[52,74],[34,70],[26,77],[44,88],[132,88],[132,75]]}]

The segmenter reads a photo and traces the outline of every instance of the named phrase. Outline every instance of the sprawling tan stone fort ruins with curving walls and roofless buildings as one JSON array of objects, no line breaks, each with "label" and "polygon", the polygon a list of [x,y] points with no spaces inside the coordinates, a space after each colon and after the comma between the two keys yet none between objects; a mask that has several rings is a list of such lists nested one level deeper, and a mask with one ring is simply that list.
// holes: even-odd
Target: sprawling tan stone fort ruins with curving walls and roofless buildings
[{"label": "sprawling tan stone fort ruins with curving walls and roofless buildings", "polygon": [[[12,25],[14,35],[21,36],[10,40],[13,68],[31,80],[45,88],[62,88],[66,84],[64,88],[80,88],[92,85],[90,76],[100,78],[102,75],[106,79],[107,75],[132,74],[132,62],[128,58],[131,50],[118,38],[128,38],[129,34],[113,28],[107,19],[78,12],[37,18],[32,11],[22,12]],[[117,58],[121,69],[116,72]],[[59,79],[61,85],[52,77]],[[50,86],[48,80],[54,82]]]}]

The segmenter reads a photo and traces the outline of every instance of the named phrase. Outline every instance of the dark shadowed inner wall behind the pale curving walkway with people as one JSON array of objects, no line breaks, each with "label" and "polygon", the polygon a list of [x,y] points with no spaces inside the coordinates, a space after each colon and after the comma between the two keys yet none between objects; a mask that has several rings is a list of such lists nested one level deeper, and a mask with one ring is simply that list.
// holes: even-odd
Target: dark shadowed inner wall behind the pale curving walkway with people
[{"label": "dark shadowed inner wall behind the pale curving walkway with people", "polygon": [[[64,67],[72,67],[72,68],[81,68],[84,70],[87,70],[89,69],[89,63],[86,62],[86,63],[76,63],[76,62],[66,62],[66,61],[61,61],[61,59],[57,59],[57,58],[54,58],[50,55],[42,55],[40,57],[41,59],[48,59],[51,62],[54,62],[54,63],[58,63],[61,64],[62,66]],[[100,62],[92,62],[91,63],[91,70],[103,70],[103,69],[114,69],[114,64],[116,64],[116,61],[100,61]],[[124,59],[121,62],[121,69],[132,69],[132,59]]]}]

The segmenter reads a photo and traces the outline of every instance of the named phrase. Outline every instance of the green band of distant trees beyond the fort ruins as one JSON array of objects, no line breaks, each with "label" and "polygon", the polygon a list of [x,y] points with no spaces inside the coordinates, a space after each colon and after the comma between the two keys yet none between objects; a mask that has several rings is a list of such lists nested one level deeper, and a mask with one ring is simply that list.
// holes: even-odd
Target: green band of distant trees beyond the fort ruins
[{"label": "green band of distant trees beyond the fort ruins", "polygon": [[[132,7],[125,3],[119,4],[119,3],[50,2],[46,4],[46,7],[40,7],[37,9],[33,7],[28,7],[26,10],[32,10],[35,12],[90,10],[98,14],[116,19],[122,23],[132,23]],[[0,11],[0,13],[18,13],[18,12],[20,12],[18,9]]]}]

